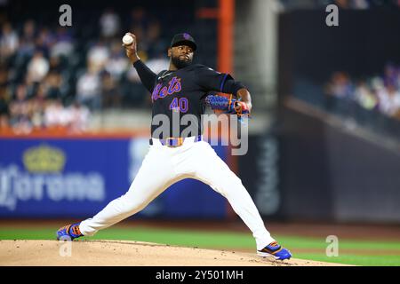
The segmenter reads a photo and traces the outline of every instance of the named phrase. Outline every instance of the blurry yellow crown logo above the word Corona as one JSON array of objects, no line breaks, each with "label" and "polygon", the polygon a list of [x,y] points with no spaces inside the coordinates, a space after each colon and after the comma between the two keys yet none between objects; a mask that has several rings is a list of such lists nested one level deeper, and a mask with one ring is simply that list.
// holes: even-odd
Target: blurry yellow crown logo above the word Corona
[{"label": "blurry yellow crown logo above the word Corona", "polygon": [[51,146],[32,147],[23,154],[23,163],[29,172],[60,172],[65,162],[65,154]]}]

